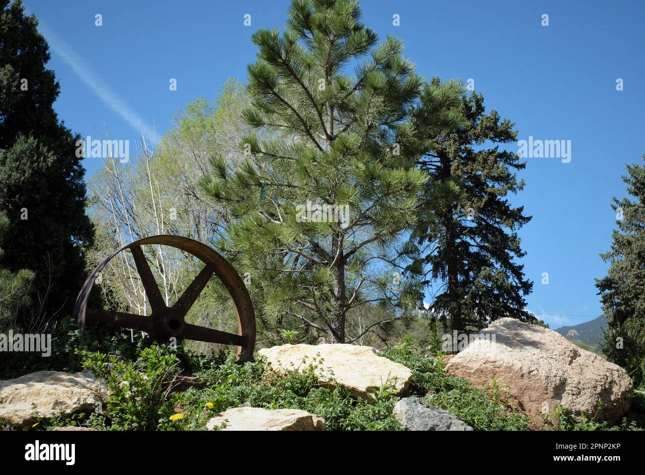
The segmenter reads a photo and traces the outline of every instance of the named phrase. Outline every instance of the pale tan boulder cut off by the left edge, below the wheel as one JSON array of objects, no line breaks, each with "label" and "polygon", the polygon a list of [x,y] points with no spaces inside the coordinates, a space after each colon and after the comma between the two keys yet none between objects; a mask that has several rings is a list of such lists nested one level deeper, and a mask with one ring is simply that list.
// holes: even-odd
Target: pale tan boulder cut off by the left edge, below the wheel
[{"label": "pale tan boulder cut off by the left edge, below the wheel", "polygon": [[89,371],[39,371],[0,381],[0,419],[30,427],[39,417],[92,412],[107,396],[107,386]]}]

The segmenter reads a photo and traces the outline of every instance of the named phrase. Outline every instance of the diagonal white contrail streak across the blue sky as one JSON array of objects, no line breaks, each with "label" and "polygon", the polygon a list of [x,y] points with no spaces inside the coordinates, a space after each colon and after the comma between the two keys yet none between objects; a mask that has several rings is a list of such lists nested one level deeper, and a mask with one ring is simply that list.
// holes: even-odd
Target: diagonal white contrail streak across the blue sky
[{"label": "diagonal white contrail streak across the blue sky", "polygon": [[83,81],[83,83],[94,92],[103,103],[117,116],[126,121],[130,127],[135,129],[137,133],[141,132],[147,134],[151,140],[154,140],[154,130],[146,121],[141,119],[141,114],[130,107],[130,105],[119,96],[110,86],[108,86],[103,79],[101,79],[95,72],[92,65],[88,63],[82,56],[77,54],[66,41],[55,34],[43,21],[39,20],[38,29],[43,36],[47,39],[49,47],[57,54],[63,62],[68,65],[76,76]]}]

